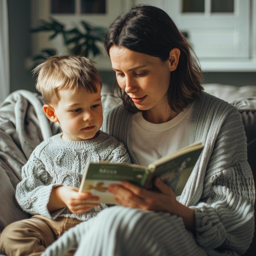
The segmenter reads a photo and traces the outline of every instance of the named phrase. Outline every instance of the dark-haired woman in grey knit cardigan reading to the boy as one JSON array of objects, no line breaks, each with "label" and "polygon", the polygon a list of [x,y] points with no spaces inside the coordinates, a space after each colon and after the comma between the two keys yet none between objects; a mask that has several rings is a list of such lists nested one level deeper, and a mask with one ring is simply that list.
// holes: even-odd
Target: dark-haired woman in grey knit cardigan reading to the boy
[{"label": "dark-haired woman in grey knit cardigan reading to the boy", "polygon": [[106,114],[103,130],[124,142],[132,162],[147,166],[199,140],[204,150],[179,197],[159,179],[160,193],[112,184],[124,207],[105,209],[59,244],[75,234],[75,255],[245,253],[254,233],[254,183],[236,108],[202,91],[197,59],[161,9],[141,5],[121,14],[105,46],[123,106]]}]

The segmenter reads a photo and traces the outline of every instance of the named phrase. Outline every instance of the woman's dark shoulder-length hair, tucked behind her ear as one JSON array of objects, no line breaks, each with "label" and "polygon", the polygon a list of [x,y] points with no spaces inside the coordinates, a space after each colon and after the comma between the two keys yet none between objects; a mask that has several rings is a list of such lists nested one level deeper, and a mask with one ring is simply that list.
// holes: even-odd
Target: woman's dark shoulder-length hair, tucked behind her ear
[{"label": "woman's dark shoulder-length hair, tucked behind her ear", "polygon": [[[202,71],[198,58],[173,20],[162,9],[138,5],[120,14],[106,30],[105,48],[108,55],[112,45],[159,57],[162,61],[168,60],[171,49],[180,49],[179,63],[177,69],[171,72],[168,89],[168,103],[174,111],[182,111],[203,90],[200,85]],[[138,109],[130,97],[117,83],[115,89],[125,108],[137,112]]]}]

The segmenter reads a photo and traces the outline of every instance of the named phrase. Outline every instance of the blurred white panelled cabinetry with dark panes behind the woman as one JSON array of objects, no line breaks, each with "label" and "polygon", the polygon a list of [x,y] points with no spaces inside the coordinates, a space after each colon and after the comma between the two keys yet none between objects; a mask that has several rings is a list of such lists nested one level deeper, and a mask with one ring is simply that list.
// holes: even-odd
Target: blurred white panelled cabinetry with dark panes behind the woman
[{"label": "blurred white panelled cabinetry with dark panes behind the woman", "polygon": [[[70,28],[81,20],[107,27],[119,13],[140,3],[141,0],[31,1],[31,27],[50,16]],[[204,71],[256,70],[256,0],[144,0],[143,3],[164,9],[177,27],[188,34]],[[33,55],[56,45],[58,52],[63,53],[58,38],[49,41],[47,34],[33,35]],[[104,63],[96,62],[99,66]]]}]

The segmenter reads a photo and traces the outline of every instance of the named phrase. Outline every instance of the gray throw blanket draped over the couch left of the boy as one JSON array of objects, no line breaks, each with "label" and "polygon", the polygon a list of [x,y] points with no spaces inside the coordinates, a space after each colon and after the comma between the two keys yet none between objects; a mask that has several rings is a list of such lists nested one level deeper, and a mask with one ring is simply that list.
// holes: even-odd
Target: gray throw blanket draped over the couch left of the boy
[{"label": "gray throw blanket draped over the couch left of the boy", "polygon": [[50,122],[39,94],[17,90],[0,106],[0,232],[9,223],[28,218],[15,199],[21,168],[43,140],[61,132]]}]

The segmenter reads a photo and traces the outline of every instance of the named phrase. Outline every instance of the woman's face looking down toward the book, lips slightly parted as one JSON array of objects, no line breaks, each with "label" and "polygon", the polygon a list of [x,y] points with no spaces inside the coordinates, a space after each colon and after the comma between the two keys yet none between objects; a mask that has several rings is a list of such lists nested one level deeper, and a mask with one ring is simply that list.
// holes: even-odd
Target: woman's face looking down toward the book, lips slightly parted
[{"label": "woman's face looking down toward the book, lips slightly parted", "polygon": [[[169,108],[167,91],[172,71],[171,61],[134,52],[126,47],[110,47],[112,69],[117,82],[139,110]],[[163,109],[164,108],[164,109]]]}]

